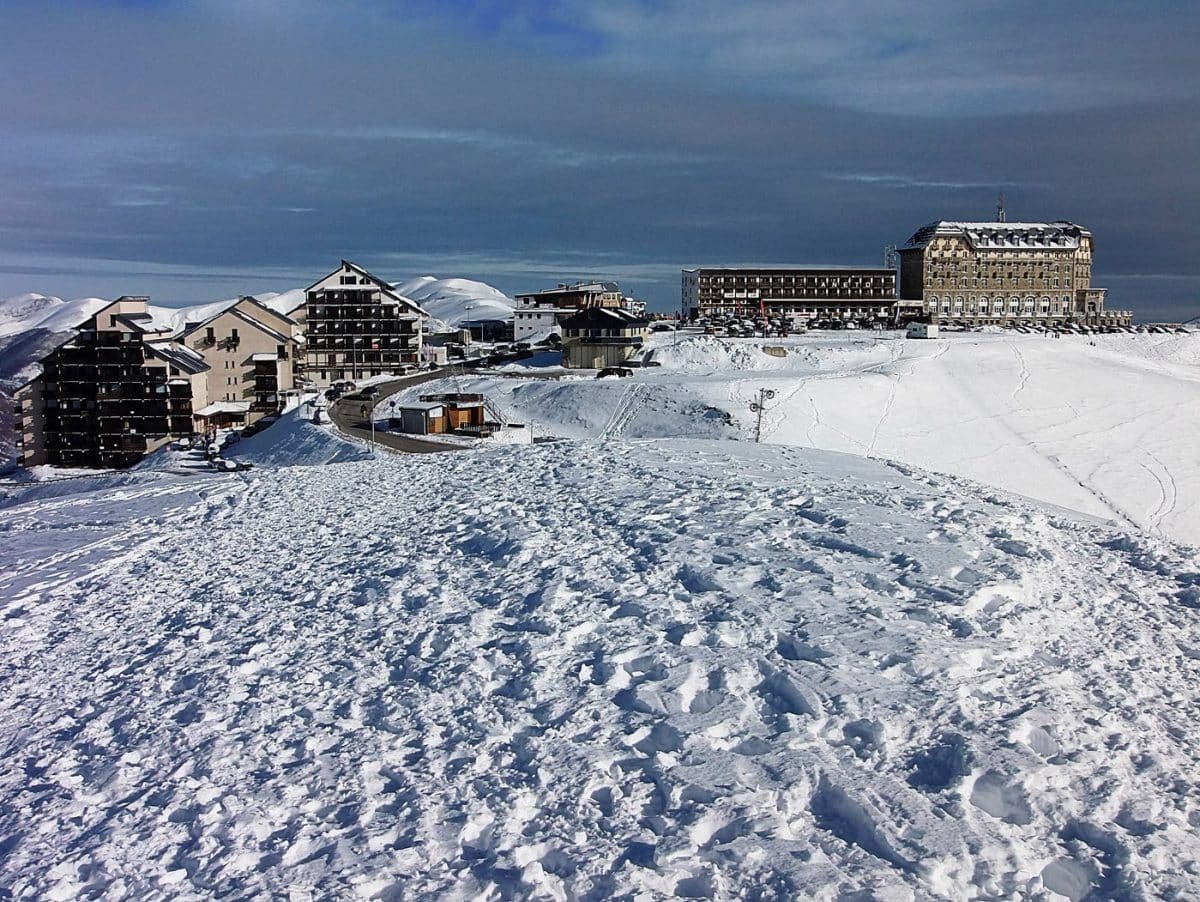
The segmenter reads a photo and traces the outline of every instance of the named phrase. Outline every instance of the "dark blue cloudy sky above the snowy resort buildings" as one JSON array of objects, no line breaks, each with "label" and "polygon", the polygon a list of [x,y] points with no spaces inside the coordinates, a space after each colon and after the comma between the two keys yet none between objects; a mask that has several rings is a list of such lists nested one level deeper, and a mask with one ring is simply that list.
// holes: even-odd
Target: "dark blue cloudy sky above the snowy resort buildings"
[{"label": "dark blue cloudy sky above the snowy resort buildings", "polygon": [[0,296],[174,305],[353,259],[656,309],[704,264],[1070,220],[1200,315],[1200,4],[0,0]]}]

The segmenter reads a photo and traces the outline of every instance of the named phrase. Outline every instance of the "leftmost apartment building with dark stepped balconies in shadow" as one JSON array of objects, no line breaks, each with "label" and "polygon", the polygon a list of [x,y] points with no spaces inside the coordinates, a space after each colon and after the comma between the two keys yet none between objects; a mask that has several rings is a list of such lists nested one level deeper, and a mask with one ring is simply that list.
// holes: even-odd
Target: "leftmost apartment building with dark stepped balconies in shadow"
[{"label": "leftmost apartment building with dark stepped balconies in shadow", "polygon": [[120,297],[79,325],[14,396],[25,467],[122,468],[192,432],[209,365]]}]

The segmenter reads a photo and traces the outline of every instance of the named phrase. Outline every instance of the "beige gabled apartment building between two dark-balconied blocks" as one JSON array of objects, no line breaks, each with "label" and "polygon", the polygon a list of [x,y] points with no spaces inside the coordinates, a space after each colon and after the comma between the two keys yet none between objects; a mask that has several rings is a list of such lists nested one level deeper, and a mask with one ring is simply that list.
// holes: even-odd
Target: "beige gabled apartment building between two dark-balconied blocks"
[{"label": "beige gabled apartment building between two dark-balconied blocks", "polygon": [[290,317],[242,297],[178,339],[209,365],[198,431],[247,426],[280,410],[302,372],[304,333]]}]

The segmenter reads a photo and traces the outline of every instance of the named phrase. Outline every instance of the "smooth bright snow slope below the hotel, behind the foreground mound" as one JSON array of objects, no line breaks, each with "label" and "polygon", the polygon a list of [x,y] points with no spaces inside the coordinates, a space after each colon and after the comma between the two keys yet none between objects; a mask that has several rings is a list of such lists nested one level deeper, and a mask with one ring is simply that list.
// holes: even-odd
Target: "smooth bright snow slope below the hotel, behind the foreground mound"
[{"label": "smooth bright snow slope below the hotel, behind the foreground mound", "polygon": [[619,381],[455,385],[572,438],[751,439],[769,389],[766,441],[905,461],[1200,545],[1200,332],[652,342],[662,366]]}]

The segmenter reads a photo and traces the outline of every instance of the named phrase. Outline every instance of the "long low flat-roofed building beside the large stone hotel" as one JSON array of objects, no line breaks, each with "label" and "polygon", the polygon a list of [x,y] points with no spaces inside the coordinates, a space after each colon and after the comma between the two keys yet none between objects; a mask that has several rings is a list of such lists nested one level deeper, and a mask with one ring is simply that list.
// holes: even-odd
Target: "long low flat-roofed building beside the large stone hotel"
[{"label": "long low flat-roofed building beside the large stone hotel", "polygon": [[706,266],[683,271],[684,319],[889,319],[896,273],[872,266]]}]

